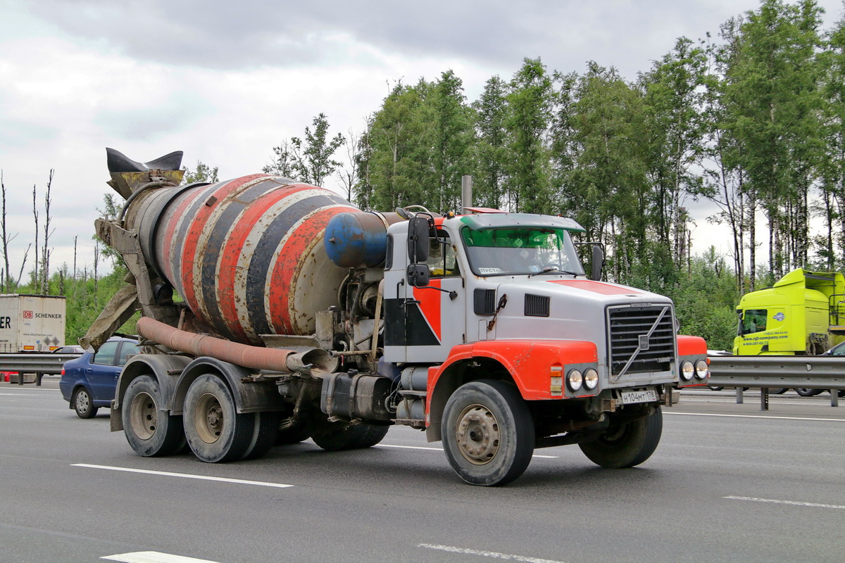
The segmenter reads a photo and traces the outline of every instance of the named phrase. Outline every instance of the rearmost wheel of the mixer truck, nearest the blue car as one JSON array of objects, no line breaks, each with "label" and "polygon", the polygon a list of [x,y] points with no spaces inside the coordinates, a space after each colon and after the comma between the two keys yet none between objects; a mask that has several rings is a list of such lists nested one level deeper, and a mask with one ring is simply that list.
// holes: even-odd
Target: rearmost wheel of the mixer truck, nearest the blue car
[{"label": "rearmost wheel of the mixer truck, nearest the blue car", "polygon": [[129,382],[121,409],[123,435],[139,456],[169,456],[185,449],[182,417],[165,414],[163,403],[155,378],[139,376]]}]

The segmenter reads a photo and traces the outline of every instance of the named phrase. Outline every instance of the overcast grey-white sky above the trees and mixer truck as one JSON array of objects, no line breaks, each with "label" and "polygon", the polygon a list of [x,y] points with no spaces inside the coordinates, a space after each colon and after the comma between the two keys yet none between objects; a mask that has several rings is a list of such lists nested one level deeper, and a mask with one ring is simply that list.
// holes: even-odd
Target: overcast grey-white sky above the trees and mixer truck
[{"label": "overcast grey-white sky above the trees and mixer truck", "polygon": [[[406,5],[407,4],[407,5]],[[0,170],[8,192],[12,271],[34,240],[50,169],[52,266],[93,263],[106,147],[134,160],[183,150],[183,164],[221,179],[257,172],[272,147],[324,112],[331,133],[360,132],[390,85],[453,69],[475,100],[524,57],[582,73],[586,62],[625,78],[651,67],[679,36],[717,35],[756,0],[0,0]],[[840,0],[821,0],[829,27]],[[691,203],[691,202],[690,202]],[[691,204],[694,246],[722,233]],[[41,210],[43,218],[43,210]],[[42,237],[43,235],[41,235]],[[31,254],[30,264],[31,267]]]}]

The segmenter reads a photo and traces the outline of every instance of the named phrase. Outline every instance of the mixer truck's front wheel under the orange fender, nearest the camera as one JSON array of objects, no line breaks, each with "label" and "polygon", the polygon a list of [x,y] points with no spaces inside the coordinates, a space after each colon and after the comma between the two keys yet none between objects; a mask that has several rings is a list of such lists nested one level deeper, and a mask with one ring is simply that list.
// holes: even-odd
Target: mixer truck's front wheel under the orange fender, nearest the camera
[{"label": "mixer truck's front wheel under the orange fender, nearest the camera", "polygon": [[441,437],[446,458],[466,483],[505,485],[531,463],[534,420],[515,387],[469,382],[446,402]]}]

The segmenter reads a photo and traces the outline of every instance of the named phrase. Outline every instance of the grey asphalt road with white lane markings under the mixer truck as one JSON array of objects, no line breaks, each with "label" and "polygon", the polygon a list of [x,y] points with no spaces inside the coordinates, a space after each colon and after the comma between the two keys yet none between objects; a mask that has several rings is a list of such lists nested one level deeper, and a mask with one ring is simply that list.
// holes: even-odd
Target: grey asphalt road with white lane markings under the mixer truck
[{"label": "grey asphalt road with white lane markings under the mixer truck", "polygon": [[138,457],[57,377],[0,383],[0,562],[845,561],[845,406],[758,397],[684,392],[638,468],[548,448],[489,489],[408,428],[353,452]]}]

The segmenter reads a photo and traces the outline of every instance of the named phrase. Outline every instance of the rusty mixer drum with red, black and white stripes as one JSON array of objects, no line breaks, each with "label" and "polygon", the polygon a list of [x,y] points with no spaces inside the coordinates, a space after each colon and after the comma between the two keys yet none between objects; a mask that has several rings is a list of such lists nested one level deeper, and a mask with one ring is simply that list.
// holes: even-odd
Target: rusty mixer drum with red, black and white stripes
[{"label": "rusty mixer drum with red, black and white stripes", "polygon": [[126,226],[197,317],[259,344],[259,334],[313,334],[313,313],[337,304],[347,271],[326,256],[324,229],[357,210],[329,190],[257,174],[151,190]]}]

